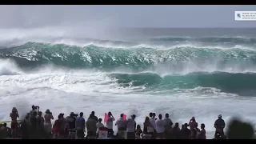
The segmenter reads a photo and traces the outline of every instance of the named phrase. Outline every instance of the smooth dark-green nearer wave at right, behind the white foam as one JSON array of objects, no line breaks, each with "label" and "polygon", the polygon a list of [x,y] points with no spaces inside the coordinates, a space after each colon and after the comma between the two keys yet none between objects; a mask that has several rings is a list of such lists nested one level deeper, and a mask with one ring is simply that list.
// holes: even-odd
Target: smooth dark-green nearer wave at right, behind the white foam
[{"label": "smooth dark-green nearer wave at right, behind the white foam", "polygon": [[186,75],[110,74],[120,86],[146,86],[147,90],[192,90],[197,87],[216,88],[226,93],[255,95],[256,74],[191,73]]}]

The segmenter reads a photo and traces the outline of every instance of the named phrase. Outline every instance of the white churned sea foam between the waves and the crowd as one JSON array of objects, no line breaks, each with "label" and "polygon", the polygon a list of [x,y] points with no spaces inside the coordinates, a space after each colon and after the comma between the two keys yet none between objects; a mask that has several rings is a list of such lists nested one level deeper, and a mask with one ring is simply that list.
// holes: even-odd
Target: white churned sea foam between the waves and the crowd
[{"label": "white churned sea foam between the waves and the crowd", "polygon": [[[0,120],[10,120],[13,106],[21,115],[30,110],[32,104],[59,113],[83,111],[87,118],[90,111],[96,111],[99,118],[112,111],[115,118],[119,114],[136,114],[138,124],[151,111],[156,114],[169,113],[174,122],[188,122],[192,116],[198,123],[206,124],[208,138],[214,135],[214,120],[218,114],[228,121],[231,116],[241,115],[256,122],[254,117],[255,98],[226,94],[214,88],[198,87],[193,90],[179,90],[175,94],[141,93],[143,87],[118,86],[116,80],[106,73],[89,70],[56,69],[46,66],[37,71],[23,72],[10,60],[1,60],[0,66],[11,69],[11,74],[0,76]],[[0,67],[0,70],[3,70]],[[8,71],[8,70],[7,70]],[[207,94],[197,91],[207,89]]]}]

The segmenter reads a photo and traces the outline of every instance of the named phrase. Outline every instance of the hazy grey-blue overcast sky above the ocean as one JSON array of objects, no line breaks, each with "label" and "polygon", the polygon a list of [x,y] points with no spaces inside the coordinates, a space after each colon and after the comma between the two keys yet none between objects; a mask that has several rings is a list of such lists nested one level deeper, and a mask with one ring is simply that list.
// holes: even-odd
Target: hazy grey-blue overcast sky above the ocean
[{"label": "hazy grey-blue overcast sky above the ocean", "polygon": [[0,27],[256,27],[235,22],[235,10],[256,6],[0,6]]}]

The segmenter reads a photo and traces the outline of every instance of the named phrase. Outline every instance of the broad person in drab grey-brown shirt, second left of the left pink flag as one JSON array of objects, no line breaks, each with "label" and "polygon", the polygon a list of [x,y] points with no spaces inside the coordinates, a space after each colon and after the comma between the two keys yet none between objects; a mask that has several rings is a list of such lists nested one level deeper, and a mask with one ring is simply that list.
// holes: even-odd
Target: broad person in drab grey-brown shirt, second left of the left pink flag
[{"label": "broad person in drab grey-brown shirt, second left of the left pink flag", "polygon": [[89,119],[86,122],[87,136],[88,139],[96,139],[97,122],[95,121],[94,115],[90,114]]}]

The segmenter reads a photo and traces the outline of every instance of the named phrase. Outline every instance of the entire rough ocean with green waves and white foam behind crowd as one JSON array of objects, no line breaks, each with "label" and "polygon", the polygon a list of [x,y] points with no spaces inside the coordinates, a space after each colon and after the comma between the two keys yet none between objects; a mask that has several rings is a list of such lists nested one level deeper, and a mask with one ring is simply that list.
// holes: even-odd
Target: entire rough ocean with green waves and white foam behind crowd
[{"label": "entire rough ocean with green waves and white foam behind crowd", "polygon": [[256,29],[145,28],[117,38],[0,32],[2,121],[12,107],[25,115],[34,104],[55,118],[136,114],[141,125],[150,112],[180,125],[194,116],[208,138],[218,114],[256,122]]}]

